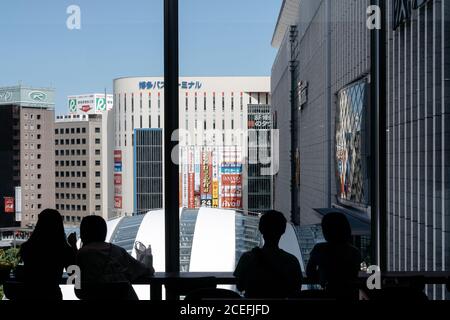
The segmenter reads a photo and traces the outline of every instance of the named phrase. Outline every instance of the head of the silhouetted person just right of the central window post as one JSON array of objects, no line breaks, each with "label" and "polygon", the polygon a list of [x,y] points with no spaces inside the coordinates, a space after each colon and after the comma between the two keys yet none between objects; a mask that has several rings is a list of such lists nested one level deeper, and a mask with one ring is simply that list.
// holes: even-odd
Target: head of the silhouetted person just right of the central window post
[{"label": "head of the silhouetted person just right of the central window post", "polygon": [[264,242],[278,246],[281,236],[286,232],[286,223],[286,218],[281,212],[272,210],[263,214],[259,220],[259,231],[264,237]]}]

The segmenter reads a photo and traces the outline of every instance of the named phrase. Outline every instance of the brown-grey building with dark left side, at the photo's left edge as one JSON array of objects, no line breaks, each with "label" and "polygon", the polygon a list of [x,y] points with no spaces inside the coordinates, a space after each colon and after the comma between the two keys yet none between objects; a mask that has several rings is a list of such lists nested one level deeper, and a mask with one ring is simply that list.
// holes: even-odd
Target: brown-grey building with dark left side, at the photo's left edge
[{"label": "brown-grey building with dark left side, at the photo's left edge", "polygon": [[54,91],[0,88],[0,227],[34,225],[53,208]]}]

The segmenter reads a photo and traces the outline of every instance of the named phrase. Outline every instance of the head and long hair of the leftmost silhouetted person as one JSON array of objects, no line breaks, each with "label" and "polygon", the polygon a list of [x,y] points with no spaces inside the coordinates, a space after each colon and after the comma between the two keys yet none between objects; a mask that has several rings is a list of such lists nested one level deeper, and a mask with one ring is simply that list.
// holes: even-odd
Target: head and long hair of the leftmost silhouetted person
[{"label": "head and long hair of the leftmost silhouetted person", "polygon": [[66,234],[61,214],[54,209],[45,209],[38,215],[38,221],[29,243],[46,246],[63,246],[66,244]]}]

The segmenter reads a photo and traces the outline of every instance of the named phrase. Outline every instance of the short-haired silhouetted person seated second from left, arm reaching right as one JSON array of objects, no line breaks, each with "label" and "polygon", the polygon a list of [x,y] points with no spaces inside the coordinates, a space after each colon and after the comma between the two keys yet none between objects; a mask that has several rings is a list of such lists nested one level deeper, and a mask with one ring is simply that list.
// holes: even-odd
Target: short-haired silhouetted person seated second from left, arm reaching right
[{"label": "short-haired silhouetted person seated second from left, arm reaching right", "polygon": [[106,234],[107,226],[102,217],[87,216],[81,221],[82,247],[77,254],[77,264],[82,289],[83,286],[95,288],[102,284],[128,283],[132,292],[126,298],[137,299],[131,284],[145,281],[155,270],[134,259],[125,249],[105,242]]}]

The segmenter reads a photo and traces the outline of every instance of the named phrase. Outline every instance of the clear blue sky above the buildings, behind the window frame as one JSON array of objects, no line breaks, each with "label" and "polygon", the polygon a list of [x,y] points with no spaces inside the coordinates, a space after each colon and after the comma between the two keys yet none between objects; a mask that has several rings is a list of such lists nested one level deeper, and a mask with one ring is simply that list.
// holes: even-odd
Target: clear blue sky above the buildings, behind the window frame
[{"label": "clear blue sky above the buildings, behind the window frame", "polygon": [[[182,76],[270,75],[282,0],[179,0]],[[81,30],[66,9],[81,8]],[[0,86],[112,91],[122,76],[163,74],[163,0],[7,0],[0,10]]]}]

